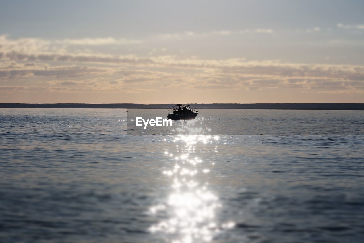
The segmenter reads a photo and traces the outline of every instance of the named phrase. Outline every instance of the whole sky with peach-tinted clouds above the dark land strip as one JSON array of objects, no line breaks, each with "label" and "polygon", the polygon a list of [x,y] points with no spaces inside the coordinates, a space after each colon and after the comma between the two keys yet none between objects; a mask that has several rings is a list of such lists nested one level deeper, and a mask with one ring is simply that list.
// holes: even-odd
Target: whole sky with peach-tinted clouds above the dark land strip
[{"label": "whole sky with peach-tinted clouds above the dark land strip", "polygon": [[364,103],[364,1],[0,0],[0,103]]}]

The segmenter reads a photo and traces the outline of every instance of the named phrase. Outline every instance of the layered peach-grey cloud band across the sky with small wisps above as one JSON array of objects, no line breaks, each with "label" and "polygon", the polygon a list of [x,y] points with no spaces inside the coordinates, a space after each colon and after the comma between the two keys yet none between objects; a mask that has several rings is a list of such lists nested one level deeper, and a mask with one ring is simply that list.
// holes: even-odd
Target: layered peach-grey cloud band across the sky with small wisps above
[{"label": "layered peach-grey cloud band across the sky with small wisps above", "polygon": [[[260,33],[272,32],[261,30]],[[238,32],[215,33],[232,34]],[[197,34],[193,33],[190,36],[195,35]],[[67,49],[53,48],[51,42],[36,40],[39,42],[29,38],[9,39],[8,36],[0,36],[0,80],[3,92],[48,90],[137,93],[163,88],[290,88],[302,92],[334,93],[357,93],[364,90],[364,66],[361,65],[246,61],[244,58],[178,58],[173,55],[145,57],[92,51],[72,53]],[[113,42],[114,39],[102,41]],[[100,76],[103,79],[97,79]],[[48,81],[44,82],[50,89],[29,88],[40,87],[35,82],[39,79]],[[13,86],[11,83],[14,81],[24,82],[24,85]]]}]

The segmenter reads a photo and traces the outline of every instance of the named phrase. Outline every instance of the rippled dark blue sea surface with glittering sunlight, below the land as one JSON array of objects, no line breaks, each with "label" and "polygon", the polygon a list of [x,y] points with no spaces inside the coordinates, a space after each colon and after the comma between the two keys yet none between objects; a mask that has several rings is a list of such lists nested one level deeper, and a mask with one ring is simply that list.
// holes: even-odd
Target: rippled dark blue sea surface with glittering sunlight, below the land
[{"label": "rippled dark blue sea surface with glittering sunlight, below the land", "polygon": [[127,120],[1,108],[0,242],[363,242],[363,111],[202,110],[171,135]]}]

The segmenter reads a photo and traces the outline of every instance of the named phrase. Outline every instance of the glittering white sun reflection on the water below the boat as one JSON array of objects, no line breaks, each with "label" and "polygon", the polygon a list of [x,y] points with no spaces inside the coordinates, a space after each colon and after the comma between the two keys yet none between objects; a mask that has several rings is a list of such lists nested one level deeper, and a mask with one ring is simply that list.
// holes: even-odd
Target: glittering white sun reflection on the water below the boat
[{"label": "glittering white sun reflection on the water below the boat", "polygon": [[[175,162],[173,167],[163,171],[164,175],[171,177],[171,192],[162,204],[149,209],[152,215],[167,215],[165,220],[152,225],[149,231],[164,234],[172,243],[210,242],[214,235],[235,225],[233,222],[218,222],[216,211],[222,204],[218,196],[209,190],[208,183],[196,178],[199,173],[209,173],[212,168],[207,166],[214,165],[211,161],[204,163],[194,155],[196,146],[219,139],[218,136],[204,134],[209,128],[194,127],[196,121],[202,123],[202,120],[182,121],[181,128],[176,129],[178,135],[172,139],[176,143],[176,154],[164,151],[165,156],[174,157]],[[214,152],[217,152],[217,146]]]}]

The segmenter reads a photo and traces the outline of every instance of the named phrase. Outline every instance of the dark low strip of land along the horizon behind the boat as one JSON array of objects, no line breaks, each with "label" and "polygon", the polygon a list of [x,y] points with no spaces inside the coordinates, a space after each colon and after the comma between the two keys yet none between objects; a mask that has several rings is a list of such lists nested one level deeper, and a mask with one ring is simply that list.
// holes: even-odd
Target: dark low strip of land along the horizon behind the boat
[{"label": "dark low strip of land along the horizon behind the boat", "polygon": [[[257,103],[257,104],[191,104],[197,109],[290,109],[290,110],[364,110],[363,103]],[[0,103],[0,108],[175,108],[175,104],[21,104]]]}]

